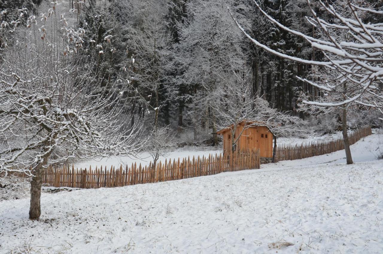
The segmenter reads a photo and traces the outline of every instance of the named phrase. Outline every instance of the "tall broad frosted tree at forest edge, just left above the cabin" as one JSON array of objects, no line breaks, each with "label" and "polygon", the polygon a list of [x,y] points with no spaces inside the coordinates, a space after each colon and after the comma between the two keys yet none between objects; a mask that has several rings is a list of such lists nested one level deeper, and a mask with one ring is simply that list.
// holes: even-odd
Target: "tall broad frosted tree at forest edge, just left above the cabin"
[{"label": "tall broad frosted tree at forest edge, just left above the cabin", "polygon": [[225,79],[235,78],[233,70],[244,73],[246,56],[242,34],[232,24],[230,15],[222,13],[221,2],[198,0],[187,6],[193,15],[180,29],[181,42],[175,46],[175,64],[180,64],[183,69],[177,82],[186,84],[193,94],[187,103],[187,115],[195,132],[200,126],[206,134],[212,128],[213,145],[218,145],[217,116],[210,105],[211,96]]}]

